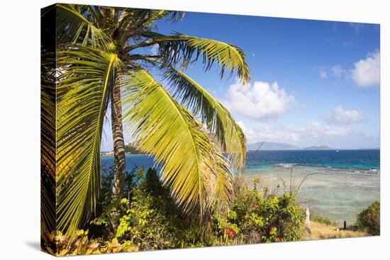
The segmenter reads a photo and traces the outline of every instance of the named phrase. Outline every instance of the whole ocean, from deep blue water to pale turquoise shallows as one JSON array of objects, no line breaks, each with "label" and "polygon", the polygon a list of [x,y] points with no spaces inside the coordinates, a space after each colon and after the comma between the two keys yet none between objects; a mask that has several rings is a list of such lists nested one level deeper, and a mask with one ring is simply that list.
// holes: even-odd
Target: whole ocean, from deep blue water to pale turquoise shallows
[{"label": "whole ocean, from deep blue water to pale turquoise shallows", "polygon": [[[126,170],[153,166],[147,155],[126,156]],[[103,170],[113,166],[113,157],[101,157]],[[316,173],[316,174],[313,174]],[[282,193],[303,181],[297,200],[311,212],[329,217],[341,225],[356,221],[356,215],[379,200],[380,151],[358,150],[283,150],[248,152],[244,176],[249,187],[260,178],[260,187]],[[291,178],[290,178],[291,176]]]}]

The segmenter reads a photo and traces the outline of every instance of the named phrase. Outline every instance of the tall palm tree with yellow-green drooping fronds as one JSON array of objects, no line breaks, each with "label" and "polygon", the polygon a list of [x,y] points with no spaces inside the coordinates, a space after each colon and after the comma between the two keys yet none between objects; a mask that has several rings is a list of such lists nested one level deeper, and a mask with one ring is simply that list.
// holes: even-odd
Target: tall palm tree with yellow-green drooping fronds
[{"label": "tall palm tree with yellow-green drooping fronds", "polygon": [[[217,40],[153,31],[183,13],[57,4],[57,229],[72,232],[94,213],[100,146],[111,106],[113,199],[125,176],[123,128],[162,166],[161,181],[185,213],[209,230],[211,208],[228,210],[233,172],[245,162],[245,136],[230,113],[184,74],[198,60],[216,63],[243,84],[240,48]],[[158,47],[157,53],[151,47]],[[162,75],[160,83],[152,75]],[[167,86],[169,89],[166,89]],[[218,203],[217,203],[218,202]]]}]

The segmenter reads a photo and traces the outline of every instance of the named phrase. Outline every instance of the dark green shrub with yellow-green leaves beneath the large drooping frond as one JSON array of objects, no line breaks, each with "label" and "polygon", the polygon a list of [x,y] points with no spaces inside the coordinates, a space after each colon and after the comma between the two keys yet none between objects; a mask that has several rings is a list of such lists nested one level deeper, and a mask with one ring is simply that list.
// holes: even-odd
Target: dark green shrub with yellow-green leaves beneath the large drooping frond
[{"label": "dark green shrub with yellow-green leaves beneath the large drooping frond", "polygon": [[119,209],[119,215],[113,220],[118,228],[106,239],[116,237],[118,242],[128,241],[140,250],[204,246],[199,241],[195,219],[177,208],[168,189],[160,183],[157,171],[148,169],[143,178],[140,174],[137,178],[140,181],[131,188],[128,198],[111,201],[107,194],[102,202],[104,210],[91,221],[107,227],[113,220],[111,210]]}]

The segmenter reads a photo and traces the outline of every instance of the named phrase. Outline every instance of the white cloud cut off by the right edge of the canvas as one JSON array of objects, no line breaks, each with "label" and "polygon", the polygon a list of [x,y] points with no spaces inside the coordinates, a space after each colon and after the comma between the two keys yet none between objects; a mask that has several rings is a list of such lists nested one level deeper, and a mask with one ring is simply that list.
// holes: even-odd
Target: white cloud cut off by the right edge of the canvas
[{"label": "white cloud cut off by the right edge of the canvas", "polygon": [[352,81],[357,86],[376,86],[380,82],[380,54],[370,52],[365,60],[354,64],[351,70]]}]

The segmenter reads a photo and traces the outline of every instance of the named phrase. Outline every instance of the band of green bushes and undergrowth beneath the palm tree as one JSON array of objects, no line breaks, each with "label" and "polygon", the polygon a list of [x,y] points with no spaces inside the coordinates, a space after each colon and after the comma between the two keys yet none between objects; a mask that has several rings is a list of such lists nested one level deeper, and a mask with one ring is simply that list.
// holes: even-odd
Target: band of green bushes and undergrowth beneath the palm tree
[{"label": "band of green bushes and undergrowth beneath the palm tree", "polygon": [[[149,169],[146,174],[141,170],[127,175],[128,180],[132,180],[128,182],[128,196],[116,200],[113,205],[107,193],[99,201],[99,215],[91,220],[88,230],[78,230],[73,238],[61,233],[50,237],[49,242],[57,244],[57,255],[254,244],[303,238],[303,210],[292,196],[236,186],[228,214],[219,214],[217,205],[213,205],[211,235],[205,238],[201,236],[196,217],[180,210],[169,196],[169,189],[162,186],[155,169]],[[106,191],[110,188],[104,187]],[[120,212],[113,220],[117,229],[106,232],[113,208]],[[66,246],[68,243],[69,247]],[[50,244],[46,247],[52,250]]]}]

